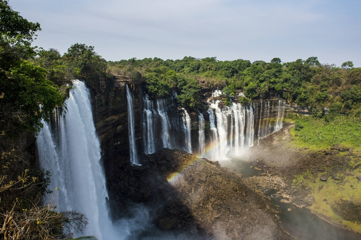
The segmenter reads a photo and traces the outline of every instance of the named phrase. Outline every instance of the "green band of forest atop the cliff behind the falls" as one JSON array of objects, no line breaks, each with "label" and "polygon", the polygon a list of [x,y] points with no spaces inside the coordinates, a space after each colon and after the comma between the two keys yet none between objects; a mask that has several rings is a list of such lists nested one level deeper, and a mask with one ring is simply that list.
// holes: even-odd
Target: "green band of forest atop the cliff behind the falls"
[{"label": "green band of forest atop the cliff behind the falls", "polygon": [[94,52],[93,47],[74,44],[63,56],[55,49],[41,50],[34,58],[48,70],[47,78],[55,83],[64,79],[81,78],[92,82],[99,76],[126,75],[135,84],[145,84],[150,97],[167,97],[178,91],[178,102],[197,110],[200,106],[200,82],[213,88],[221,87],[225,104],[230,104],[236,90],[242,90],[247,102],[268,97],[269,92],[318,112],[329,107],[347,113],[360,108],[361,68],[347,61],[341,67],[320,64],[317,57],[282,63],[280,58],[270,62],[249,60],[218,61],[216,57],[203,59],[184,57],[182,60],[144,58],[108,61]]}]

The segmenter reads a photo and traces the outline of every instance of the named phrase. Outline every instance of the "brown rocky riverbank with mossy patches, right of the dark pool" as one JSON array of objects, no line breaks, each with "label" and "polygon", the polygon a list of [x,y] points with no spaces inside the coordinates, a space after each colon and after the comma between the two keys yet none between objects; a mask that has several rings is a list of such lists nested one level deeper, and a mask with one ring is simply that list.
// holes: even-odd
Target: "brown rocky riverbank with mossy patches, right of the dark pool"
[{"label": "brown rocky riverbank with mossy patches, right of the dark pool", "polygon": [[300,147],[290,133],[292,127],[289,124],[250,148],[254,160],[249,163],[264,175],[245,183],[259,192],[277,189],[282,202],[309,207],[336,226],[359,231],[360,151],[342,145]]}]

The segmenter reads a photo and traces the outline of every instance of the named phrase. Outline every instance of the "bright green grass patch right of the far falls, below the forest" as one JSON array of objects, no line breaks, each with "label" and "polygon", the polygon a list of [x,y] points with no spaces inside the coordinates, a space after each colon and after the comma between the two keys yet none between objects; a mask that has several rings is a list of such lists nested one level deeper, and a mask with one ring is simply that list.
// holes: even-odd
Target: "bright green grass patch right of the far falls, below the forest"
[{"label": "bright green grass patch right of the far falls, below the forest", "polygon": [[286,121],[299,120],[301,131],[291,129],[291,134],[301,145],[317,148],[342,144],[346,147],[361,147],[361,119],[351,116],[337,116],[331,122],[311,116],[291,116]]}]

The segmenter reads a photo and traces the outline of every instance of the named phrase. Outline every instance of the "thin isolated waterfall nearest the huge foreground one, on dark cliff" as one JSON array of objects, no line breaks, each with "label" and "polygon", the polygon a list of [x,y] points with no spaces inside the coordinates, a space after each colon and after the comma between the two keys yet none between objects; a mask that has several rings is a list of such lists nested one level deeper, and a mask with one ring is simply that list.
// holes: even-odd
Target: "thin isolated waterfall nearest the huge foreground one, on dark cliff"
[{"label": "thin isolated waterfall nearest the huge foreground one, on dark cliff", "polygon": [[125,86],[127,91],[127,103],[128,103],[128,135],[129,135],[129,150],[130,150],[130,162],[132,165],[140,165],[138,163],[138,155],[136,153],[135,137],[134,137],[134,99],[133,93],[130,92],[128,85]]}]

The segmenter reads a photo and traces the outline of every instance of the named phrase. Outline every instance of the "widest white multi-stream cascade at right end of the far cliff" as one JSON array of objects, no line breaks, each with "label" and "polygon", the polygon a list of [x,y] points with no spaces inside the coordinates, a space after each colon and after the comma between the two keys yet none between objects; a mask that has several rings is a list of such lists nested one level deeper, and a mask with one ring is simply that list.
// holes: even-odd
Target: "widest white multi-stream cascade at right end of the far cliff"
[{"label": "widest white multi-stream cascade at right end of the far cliff", "polygon": [[[218,96],[216,90],[212,96]],[[259,138],[282,128],[286,101],[261,100],[251,102],[248,106],[233,103],[231,106],[218,108],[219,100],[211,101],[208,109],[210,121],[210,144],[212,147],[206,155],[212,159],[227,159],[239,156]],[[257,122],[258,121],[258,122]]]}]

